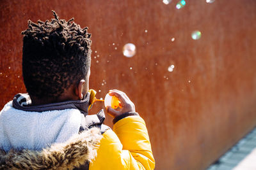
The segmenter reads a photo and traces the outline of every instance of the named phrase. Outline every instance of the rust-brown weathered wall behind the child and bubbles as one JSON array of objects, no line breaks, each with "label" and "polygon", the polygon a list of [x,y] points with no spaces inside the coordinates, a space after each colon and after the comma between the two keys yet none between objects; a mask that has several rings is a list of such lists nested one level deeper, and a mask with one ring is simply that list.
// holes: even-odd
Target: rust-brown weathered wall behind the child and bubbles
[{"label": "rust-brown weathered wall behind the child and bubbles", "polygon": [[[256,1],[191,0],[180,10],[177,2],[1,0],[0,106],[26,92],[20,32],[28,19],[51,19],[55,10],[89,27],[90,88],[98,98],[123,90],[136,104],[156,169],[205,169],[256,125]],[[136,45],[134,57],[122,55],[125,43]]]}]

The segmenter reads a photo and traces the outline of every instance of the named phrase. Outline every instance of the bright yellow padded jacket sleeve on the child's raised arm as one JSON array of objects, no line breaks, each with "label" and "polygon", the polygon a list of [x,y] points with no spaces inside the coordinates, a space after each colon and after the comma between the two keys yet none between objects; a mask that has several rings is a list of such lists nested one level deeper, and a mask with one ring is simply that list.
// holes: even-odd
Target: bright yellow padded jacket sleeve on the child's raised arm
[{"label": "bright yellow padded jacket sleeve on the child's raised arm", "polygon": [[125,117],[103,134],[89,169],[154,169],[147,127],[139,116]]}]

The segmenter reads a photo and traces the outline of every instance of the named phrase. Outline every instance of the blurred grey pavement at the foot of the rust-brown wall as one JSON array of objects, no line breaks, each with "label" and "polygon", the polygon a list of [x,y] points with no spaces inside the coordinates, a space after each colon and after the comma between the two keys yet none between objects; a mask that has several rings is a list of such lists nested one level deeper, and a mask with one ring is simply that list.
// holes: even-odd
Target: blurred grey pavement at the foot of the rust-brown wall
[{"label": "blurred grey pavement at the foot of the rust-brown wall", "polygon": [[256,170],[256,127],[207,170]]}]

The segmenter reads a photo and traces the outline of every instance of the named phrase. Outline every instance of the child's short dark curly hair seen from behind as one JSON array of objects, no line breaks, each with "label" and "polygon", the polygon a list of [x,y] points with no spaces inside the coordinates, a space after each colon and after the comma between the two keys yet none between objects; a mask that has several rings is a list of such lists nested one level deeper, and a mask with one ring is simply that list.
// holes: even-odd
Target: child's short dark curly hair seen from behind
[{"label": "child's short dark curly hair seen from behind", "polygon": [[28,20],[28,29],[22,31],[22,74],[30,96],[57,99],[70,85],[86,78],[92,40],[88,27],[81,29],[74,18],[66,22],[55,11],[52,14],[51,22]]}]

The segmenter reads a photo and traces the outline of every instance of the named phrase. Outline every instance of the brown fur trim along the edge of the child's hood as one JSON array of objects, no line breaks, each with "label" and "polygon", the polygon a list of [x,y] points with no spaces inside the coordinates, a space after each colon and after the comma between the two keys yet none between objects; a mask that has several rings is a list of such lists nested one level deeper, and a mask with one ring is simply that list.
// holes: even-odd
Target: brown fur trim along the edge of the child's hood
[{"label": "brown fur trim along the edge of the child's hood", "polygon": [[42,151],[0,150],[0,169],[73,169],[95,157],[101,138],[99,129],[92,128]]}]

